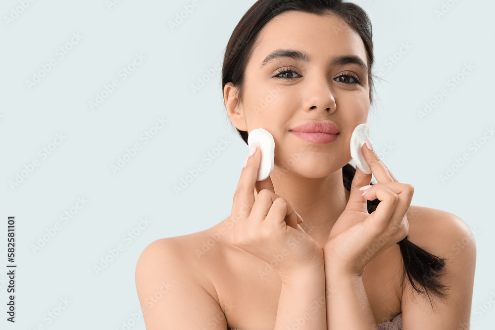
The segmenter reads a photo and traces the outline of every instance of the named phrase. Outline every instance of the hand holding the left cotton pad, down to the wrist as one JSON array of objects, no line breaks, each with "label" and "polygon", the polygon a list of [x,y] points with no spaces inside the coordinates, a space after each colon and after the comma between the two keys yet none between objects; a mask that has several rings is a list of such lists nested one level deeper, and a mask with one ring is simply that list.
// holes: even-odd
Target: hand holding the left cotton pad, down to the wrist
[{"label": "hand holding the left cotton pad, down to the wrist", "polygon": [[256,182],[260,160],[256,147],[241,172],[232,204],[231,243],[270,263],[282,280],[289,279],[305,267],[323,264],[323,249],[299,226],[301,217],[275,193],[270,177]]}]

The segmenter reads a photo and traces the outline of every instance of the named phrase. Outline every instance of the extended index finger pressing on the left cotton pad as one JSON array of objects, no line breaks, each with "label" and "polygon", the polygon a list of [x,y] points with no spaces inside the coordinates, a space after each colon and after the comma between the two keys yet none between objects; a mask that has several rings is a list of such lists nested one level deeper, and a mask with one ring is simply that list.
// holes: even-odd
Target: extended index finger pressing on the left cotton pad
[{"label": "extended index finger pressing on the left cotton pad", "polygon": [[254,203],[254,184],[258,176],[258,167],[261,159],[259,148],[247,158],[246,166],[241,171],[232,203],[232,216],[236,219],[245,219],[251,213]]}]

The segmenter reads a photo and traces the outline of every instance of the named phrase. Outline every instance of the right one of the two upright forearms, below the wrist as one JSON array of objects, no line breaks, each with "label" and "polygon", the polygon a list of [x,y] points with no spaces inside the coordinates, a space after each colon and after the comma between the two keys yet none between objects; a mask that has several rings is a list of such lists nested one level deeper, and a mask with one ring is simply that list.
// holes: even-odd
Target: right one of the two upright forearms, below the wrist
[{"label": "right one of the two upright forearms, below the wrist", "polygon": [[378,329],[361,276],[325,260],[325,283],[331,291],[326,301],[327,329]]}]

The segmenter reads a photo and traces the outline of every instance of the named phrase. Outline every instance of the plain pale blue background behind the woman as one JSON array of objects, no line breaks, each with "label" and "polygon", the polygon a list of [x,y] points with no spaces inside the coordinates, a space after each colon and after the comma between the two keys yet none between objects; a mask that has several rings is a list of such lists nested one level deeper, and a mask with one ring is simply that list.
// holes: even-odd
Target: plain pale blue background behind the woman
[{"label": "plain pale blue background behind the woman", "polygon": [[[8,24],[4,17],[20,2],[1,4],[0,240],[5,242],[6,217],[14,215],[18,265],[16,323],[8,329],[122,329],[140,310],[134,270],[143,249],[162,237],[205,230],[230,214],[247,145],[226,115],[221,65],[234,27],[254,1],[198,0],[173,31],[168,22],[192,0],[121,0],[111,7],[106,2],[29,2]],[[435,10],[447,2],[453,6],[437,17]],[[495,295],[495,139],[476,153],[470,144],[495,124],[495,2],[356,3],[372,19],[375,73],[383,69],[386,80],[377,81],[368,120],[375,150],[399,181],[415,187],[413,205],[453,213],[475,234],[471,329],[488,329],[495,324],[494,304],[481,315],[475,310]],[[59,58],[56,50],[73,33],[82,39]],[[399,55],[402,43],[411,49]],[[146,59],[123,80],[119,70],[135,54]],[[387,59],[394,55],[400,59],[391,67]],[[26,80],[50,58],[56,65],[29,89]],[[448,81],[466,63],[474,69],[452,90]],[[193,94],[191,86],[211,69],[211,81]],[[89,101],[113,79],[119,86],[92,110]],[[418,111],[442,89],[448,95],[420,119]],[[168,123],[145,143],[140,136],[157,117]],[[43,159],[39,150],[60,133],[66,138]],[[206,161],[203,156],[222,139],[229,141],[227,148]],[[141,150],[114,174],[111,165],[134,143]],[[442,182],[440,175],[463,153],[469,160]],[[9,181],[35,159],[40,165],[12,189]],[[200,164],[204,170],[176,194],[173,186]],[[78,197],[88,202],[63,223],[60,214]],[[145,217],[147,227],[126,239]],[[57,222],[61,229],[35,253],[32,245]],[[118,244],[124,250],[97,274],[94,265]],[[0,275],[3,306],[5,281]],[[70,303],[48,324],[44,315],[61,298]],[[0,322],[3,329],[5,316]],[[142,318],[131,327],[144,328]]]}]

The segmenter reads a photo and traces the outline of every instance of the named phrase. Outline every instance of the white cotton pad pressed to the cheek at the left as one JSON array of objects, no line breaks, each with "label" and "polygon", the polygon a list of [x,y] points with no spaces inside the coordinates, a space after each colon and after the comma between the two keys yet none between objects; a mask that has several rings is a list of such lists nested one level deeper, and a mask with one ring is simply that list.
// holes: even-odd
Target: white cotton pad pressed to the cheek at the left
[{"label": "white cotton pad pressed to the cheek at the left", "polygon": [[247,145],[256,142],[261,150],[261,162],[258,168],[256,181],[267,179],[275,168],[275,141],[273,136],[265,129],[257,128],[252,130],[247,136]]}]

